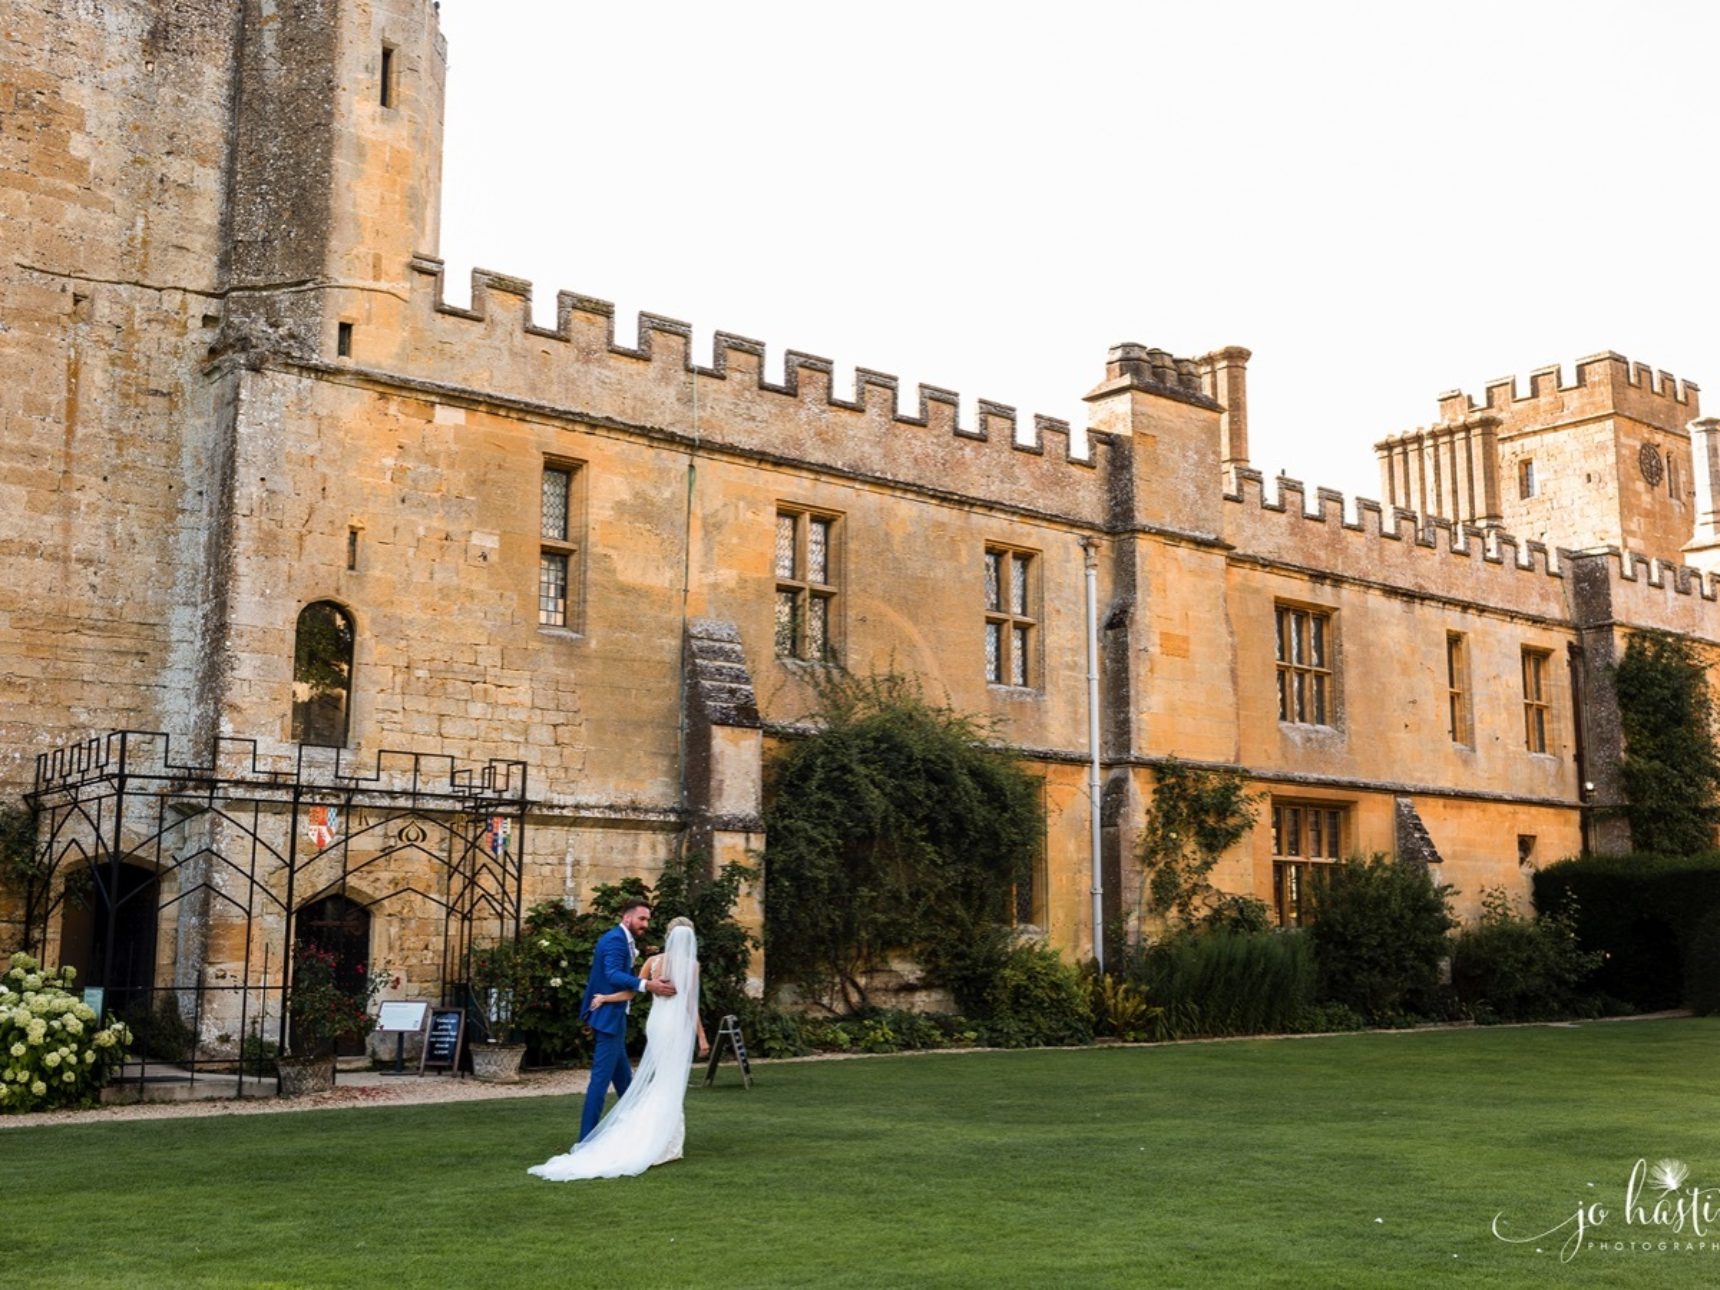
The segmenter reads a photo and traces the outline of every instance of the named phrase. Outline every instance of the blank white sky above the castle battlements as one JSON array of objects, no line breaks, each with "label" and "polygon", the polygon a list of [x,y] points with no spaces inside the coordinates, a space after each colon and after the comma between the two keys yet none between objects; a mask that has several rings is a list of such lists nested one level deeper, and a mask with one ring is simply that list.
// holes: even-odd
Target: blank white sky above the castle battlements
[{"label": "blank white sky above the castle battlements", "polygon": [[[1720,5],[444,0],[442,255],[1085,423],[1254,351],[1254,464],[1378,495],[1434,396],[1617,349],[1720,409]],[[1312,494],[1311,494],[1312,495]]]}]

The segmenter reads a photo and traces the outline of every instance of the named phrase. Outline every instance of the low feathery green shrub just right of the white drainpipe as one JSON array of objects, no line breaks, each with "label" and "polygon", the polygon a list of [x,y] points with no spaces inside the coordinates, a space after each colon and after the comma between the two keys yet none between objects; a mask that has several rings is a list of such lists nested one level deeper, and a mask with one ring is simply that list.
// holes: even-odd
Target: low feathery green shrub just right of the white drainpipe
[{"label": "low feathery green shrub just right of the white drainpipe", "polygon": [[1158,1039],[1280,1034],[1314,1001],[1304,932],[1180,932],[1149,946],[1130,975],[1159,1006]]}]

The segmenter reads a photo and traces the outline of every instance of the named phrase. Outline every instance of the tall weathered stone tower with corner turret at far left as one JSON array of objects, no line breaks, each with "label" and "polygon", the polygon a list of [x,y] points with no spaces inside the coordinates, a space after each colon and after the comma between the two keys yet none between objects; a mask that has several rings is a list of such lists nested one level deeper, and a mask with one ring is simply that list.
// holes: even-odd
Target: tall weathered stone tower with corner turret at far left
[{"label": "tall weathered stone tower with corner turret at far left", "polygon": [[89,729],[218,724],[236,373],[361,354],[404,310],[445,57],[433,0],[24,0],[0,41],[15,789]]}]

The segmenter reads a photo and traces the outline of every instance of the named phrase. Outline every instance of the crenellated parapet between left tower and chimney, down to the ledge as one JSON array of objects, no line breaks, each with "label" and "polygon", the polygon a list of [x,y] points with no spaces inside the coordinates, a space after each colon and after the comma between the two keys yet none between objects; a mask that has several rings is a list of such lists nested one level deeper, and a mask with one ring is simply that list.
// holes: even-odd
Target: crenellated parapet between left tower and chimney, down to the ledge
[{"label": "crenellated parapet between left tower and chimney, down to the ledge", "polygon": [[[764,342],[733,332],[716,332],[709,361],[698,361],[688,323],[640,313],[636,332],[623,339],[609,301],[571,291],[556,296],[556,325],[540,327],[525,279],[475,270],[471,303],[461,306],[445,298],[440,260],[416,256],[411,268],[418,335],[389,366],[428,356],[427,372],[439,382],[519,394],[571,418],[600,415],[712,447],[1103,514],[1094,471],[1103,435],[1075,435],[1061,418],[1022,418],[1010,404],[979,399],[975,416],[963,420],[955,390],[925,384],[903,409],[901,384],[888,372],[857,368],[851,392],[843,392],[831,359],[786,349],[771,372]],[[1194,373],[1189,380],[1197,385]]]}]

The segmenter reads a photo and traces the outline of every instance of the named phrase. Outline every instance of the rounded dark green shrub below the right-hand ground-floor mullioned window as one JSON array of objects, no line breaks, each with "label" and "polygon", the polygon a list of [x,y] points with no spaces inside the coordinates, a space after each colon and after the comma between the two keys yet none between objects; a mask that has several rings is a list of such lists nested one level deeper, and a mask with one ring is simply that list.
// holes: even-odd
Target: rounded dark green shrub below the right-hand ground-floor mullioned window
[{"label": "rounded dark green shrub below the right-hand ground-floor mullioned window", "polygon": [[1457,925],[1450,891],[1422,865],[1383,855],[1331,865],[1309,884],[1309,937],[1319,998],[1371,1023],[1398,1023],[1440,1010],[1440,961]]}]

